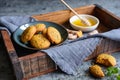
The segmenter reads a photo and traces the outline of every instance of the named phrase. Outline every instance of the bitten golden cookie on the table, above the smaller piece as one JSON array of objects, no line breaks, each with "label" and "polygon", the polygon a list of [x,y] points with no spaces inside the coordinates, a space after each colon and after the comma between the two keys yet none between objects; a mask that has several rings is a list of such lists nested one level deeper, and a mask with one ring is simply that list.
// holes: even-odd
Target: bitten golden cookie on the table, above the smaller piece
[{"label": "bitten golden cookie on the table, above the smaller piece", "polygon": [[105,66],[115,66],[116,59],[112,55],[102,53],[98,55],[96,59],[96,63],[102,64]]}]

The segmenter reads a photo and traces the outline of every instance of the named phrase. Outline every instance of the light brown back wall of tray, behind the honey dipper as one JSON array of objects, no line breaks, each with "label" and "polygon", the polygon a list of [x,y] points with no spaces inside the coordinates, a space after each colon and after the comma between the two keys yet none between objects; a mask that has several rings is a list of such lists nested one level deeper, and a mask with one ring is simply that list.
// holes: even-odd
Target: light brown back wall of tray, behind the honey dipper
[{"label": "light brown back wall of tray, behind the honey dipper", "polygon": [[[92,14],[95,5],[75,8],[74,10],[79,14]],[[36,20],[52,21],[58,24],[64,24],[74,14],[70,10],[61,10],[46,14],[33,15],[32,17]]]}]

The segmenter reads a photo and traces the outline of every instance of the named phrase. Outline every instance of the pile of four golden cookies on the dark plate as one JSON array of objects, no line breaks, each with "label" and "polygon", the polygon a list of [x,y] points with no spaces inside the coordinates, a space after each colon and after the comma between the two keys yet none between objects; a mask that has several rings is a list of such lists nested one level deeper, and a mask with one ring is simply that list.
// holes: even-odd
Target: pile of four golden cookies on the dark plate
[{"label": "pile of four golden cookies on the dark plate", "polygon": [[26,28],[21,35],[21,41],[30,43],[37,49],[46,49],[51,44],[61,43],[62,37],[55,27],[46,28],[45,24],[39,23]]}]

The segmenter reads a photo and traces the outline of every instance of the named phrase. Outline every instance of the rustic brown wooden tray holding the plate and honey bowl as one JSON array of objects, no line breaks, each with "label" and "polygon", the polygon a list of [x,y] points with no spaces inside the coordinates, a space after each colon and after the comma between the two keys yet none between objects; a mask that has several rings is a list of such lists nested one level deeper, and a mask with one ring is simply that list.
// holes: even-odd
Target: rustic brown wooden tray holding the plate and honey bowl
[{"label": "rustic brown wooden tray holding the plate and honey bowl", "polygon": [[[84,6],[75,8],[75,10],[79,14],[90,14],[99,18],[100,25],[97,29],[99,32],[106,32],[120,27],[120,18],[98,5]],[[73,16],[73,13],[70,10],[61,10],[47,14],[33,15],[32,17],[36,20],[53,21],[64,25],[66,28],[71,28],[68,21],[71,16]],[[17,80],[26,80],[57,69],[55,63],[47,56],[47,54],[40,51],[26,50],[15,44],[7,31],[1,30],[0,32]],[[119,44],[116,41],[103,38],[101,44],[97,46],[96,50],[86,60],[95,57],[96,54],[101,52],[119,51]]]}]

